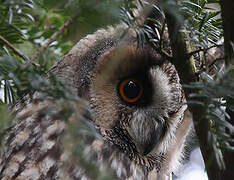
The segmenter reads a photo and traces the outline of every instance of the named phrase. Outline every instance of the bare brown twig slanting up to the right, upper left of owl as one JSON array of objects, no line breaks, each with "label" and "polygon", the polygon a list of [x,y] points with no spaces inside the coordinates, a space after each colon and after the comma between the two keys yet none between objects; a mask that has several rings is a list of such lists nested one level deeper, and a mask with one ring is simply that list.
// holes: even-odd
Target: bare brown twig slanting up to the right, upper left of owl
[{"label": "bare brown twig slanting up to the right, upper left of owl", "polygon": [[51,38],[50,38],[41,48],[39,48],[39,49],[37,50],[37,52],[32,56],[31,61],[35,62],[36,59],[38,59],[38,57],[41,55],[41,53],[44,52],[44,51],[49,47],[49,45],[50,45],[52,42],[54,42],[54,41],[58,38],[58,36],[60,36],[60,35],[64,32],[64,30],[72,23],[73,19],[74,19],[74,17],[71,18],[71,19],[69,19],[69,20],[67,20],[67,21],[65,22],[65,24],[64,24],[63,26],[61,26],[61,27],[58,29],[58,31],[56,31],[56,32],[51,36]]}]

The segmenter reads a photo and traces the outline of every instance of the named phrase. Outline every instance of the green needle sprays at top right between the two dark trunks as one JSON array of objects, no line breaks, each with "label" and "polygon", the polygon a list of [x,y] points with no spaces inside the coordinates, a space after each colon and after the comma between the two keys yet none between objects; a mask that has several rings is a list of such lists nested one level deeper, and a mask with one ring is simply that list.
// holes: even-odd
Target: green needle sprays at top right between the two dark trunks
[{"label": "green needle sprays at top right between the two dark trunks", "polygon": [[183,0],[179,4],[185,18],[184,29],[187,40],[197,48],[207,48],[217,44],[223,36],[221,10],[212,7],[207,0]]}]

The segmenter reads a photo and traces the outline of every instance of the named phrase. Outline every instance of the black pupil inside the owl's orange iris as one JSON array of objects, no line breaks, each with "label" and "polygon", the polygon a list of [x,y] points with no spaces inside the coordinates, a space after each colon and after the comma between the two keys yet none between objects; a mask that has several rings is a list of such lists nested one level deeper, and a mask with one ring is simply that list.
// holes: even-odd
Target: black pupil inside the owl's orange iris
[{"label": "black pupil inside the owl's orange iris", "polygon": [[140,86],[134,82],[134,81],[129,81],[125,86],[124,86],[124,95],[129,98],[129,99],[134,99],[136,98],[141,89],[140,89]]}]

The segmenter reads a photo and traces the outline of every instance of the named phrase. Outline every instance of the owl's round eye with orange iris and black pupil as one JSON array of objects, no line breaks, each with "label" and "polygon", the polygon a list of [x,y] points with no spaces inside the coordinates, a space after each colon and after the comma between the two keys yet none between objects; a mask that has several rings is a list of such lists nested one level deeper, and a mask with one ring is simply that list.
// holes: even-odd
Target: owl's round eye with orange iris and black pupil
[{"label": "owl's round eye with orange iris and black pupil", "polygon": [[119,94],[127,103],[135,103],[143,93],[143,86],[140,81],[134,78],[128,78],[120,82]]}]

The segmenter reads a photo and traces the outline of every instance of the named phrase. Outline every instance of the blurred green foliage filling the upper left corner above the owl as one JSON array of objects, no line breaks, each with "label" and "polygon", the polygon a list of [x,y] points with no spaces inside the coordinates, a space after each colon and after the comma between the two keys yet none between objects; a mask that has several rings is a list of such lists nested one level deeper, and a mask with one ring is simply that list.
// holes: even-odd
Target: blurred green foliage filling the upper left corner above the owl
[{"label": "blurred green foliage filling the upper left corner above the owl", "polygon": [[[0,35],[11,44],[18,44],[16,47],[23,54],[32,57],[38,47],[58,31],[68,19],[73,18],[73,23],[43,53],[46,57],[58,60],[87,33],[118,23],[120,11],[118,7],[121,2],[120,0],[114,2],[108,0],[69,2],[66,0],[2,0]],[[0,54],[6,52],[12,51],[0,40]]]}]

